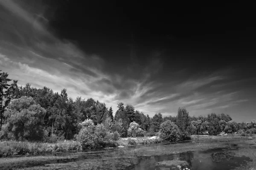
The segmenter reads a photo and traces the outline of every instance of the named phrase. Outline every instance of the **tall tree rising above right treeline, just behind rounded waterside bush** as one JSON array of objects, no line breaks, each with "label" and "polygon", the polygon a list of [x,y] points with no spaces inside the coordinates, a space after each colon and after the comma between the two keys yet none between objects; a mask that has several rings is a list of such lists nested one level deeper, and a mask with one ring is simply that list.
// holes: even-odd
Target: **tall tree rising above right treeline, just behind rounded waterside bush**
[{"label": "tall tree rising above right treeline, just behind rounded waterside bush", "polygon": [[189,126],[189,112],[186,108],[178,108],[176,125],[183,132],[185,132],[186,128]]}]

